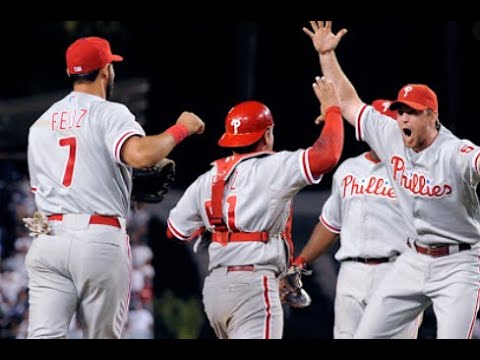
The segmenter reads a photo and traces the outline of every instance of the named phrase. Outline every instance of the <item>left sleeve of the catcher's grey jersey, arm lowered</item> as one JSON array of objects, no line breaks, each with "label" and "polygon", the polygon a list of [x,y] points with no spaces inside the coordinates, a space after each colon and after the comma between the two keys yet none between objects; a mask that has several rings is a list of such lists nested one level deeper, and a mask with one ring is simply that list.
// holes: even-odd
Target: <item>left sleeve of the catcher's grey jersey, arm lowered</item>
[{"label": "left sleeve of the catcher's grey jersey, arm lowered", "polygon": [[200,179],[188,187],[168,216],[168,229],[177,239],[193,240],[205,229],[201,216]]}]

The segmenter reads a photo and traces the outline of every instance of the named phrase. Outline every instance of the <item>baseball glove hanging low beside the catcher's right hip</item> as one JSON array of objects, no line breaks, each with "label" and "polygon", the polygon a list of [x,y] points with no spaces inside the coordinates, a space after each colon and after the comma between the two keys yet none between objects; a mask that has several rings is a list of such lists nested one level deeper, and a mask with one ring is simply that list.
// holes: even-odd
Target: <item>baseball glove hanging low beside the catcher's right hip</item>
[{"label": "baseball glove hanging low beside the catcher's right hip", "polygon": [[293,308],[301,309],[312,303],[310,295],[302,289],[302,275],[311,275],[311,270],[292,265],[280,280],[280,300]]}]

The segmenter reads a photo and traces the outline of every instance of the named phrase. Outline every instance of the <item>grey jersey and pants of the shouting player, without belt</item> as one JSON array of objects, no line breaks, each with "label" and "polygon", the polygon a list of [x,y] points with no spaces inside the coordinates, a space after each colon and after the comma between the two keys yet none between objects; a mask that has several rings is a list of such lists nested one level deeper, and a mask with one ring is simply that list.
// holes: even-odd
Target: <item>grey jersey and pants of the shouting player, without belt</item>
[{"label": "grey jersey and pants of the shouting player, without belt", "polygon": [[407,249],[385,275],[355,338],[394,337],[431,304],[437,338],[470,338],[479,307],[479,250],[460,246],[480,240],[480,149],[442,126],[433,144],[417,153],[405,146],[397,124],[369,106],[361,109],[356,132],[387,168],[412,248],[450,246],[439,257]]}]

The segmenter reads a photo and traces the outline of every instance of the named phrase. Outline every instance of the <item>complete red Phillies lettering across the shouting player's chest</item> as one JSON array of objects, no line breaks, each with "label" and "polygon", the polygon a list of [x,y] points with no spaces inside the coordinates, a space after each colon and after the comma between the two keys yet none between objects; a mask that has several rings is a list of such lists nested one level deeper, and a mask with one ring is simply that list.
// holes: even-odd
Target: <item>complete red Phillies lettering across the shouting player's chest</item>
[{"label": "complete red Phillies lettering across the shouting player's chest", "polygon": [[453,187],[451,185],[433,185],[423,174],[412,172],[411,176],[407,176],[405,174],[405,160],[399,156],[393,156],[391,164],[394,180],[414,195],[442,198],[452,193]]}]

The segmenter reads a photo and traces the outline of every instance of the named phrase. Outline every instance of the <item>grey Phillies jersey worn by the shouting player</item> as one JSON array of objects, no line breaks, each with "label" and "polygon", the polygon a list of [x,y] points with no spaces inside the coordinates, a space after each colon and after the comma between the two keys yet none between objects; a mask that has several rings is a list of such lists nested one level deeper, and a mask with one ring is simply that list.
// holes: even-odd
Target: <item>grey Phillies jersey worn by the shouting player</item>
[{"label": "grey Phillies jersey worn by the shouting player", "polygon": [[434,143],[416,153],[405,147],[398,125],[370,106],[358,115],[356,135],[386,164],[409,238],[425,245],[480,240],[478,146],[442,126]]}]

